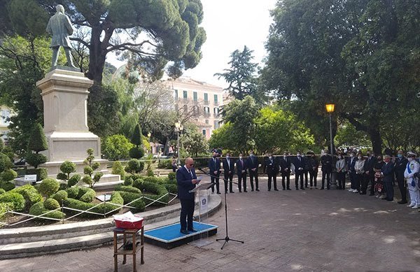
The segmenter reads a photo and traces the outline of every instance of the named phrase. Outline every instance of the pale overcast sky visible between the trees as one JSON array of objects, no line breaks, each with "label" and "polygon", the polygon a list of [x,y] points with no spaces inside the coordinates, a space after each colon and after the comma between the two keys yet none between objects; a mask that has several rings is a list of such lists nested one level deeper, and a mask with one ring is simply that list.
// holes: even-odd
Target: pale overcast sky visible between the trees
[{"label": "pale overcast sky visible between the trees", "polygon": [[[254,62],[260,63],[267,54],[264,43],[267,40],[272,18],[269,10],[276,0],[202,0],[204,20],[200,24],[207,33],[202,45],[202,60],[183,75],[220,87],[227,87],[224,80],[218,80],[214,73],[229,68],[230,54],[244,45],[253,50]],[[114,65],[120,64],[109,56]]]}]

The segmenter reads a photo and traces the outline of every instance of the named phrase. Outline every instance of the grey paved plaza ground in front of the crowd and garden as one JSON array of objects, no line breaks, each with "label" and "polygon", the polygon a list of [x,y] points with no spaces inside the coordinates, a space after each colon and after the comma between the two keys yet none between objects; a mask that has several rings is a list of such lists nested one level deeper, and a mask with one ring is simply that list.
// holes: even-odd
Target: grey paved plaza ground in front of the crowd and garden
[{"label": "grey paved plaza ground in front of the crowd and garden", "polygon": [[[221,208],[209,217],[219,226],[209,245],[146,244],[138,271],[420,271],[417,210],[336,189],[267,192],[265,180],[260,192],[228,194],[229,236],[244,244],[215,241],[225,237]],[[0,271],[113,271],[113,248],[3,260]]]}]

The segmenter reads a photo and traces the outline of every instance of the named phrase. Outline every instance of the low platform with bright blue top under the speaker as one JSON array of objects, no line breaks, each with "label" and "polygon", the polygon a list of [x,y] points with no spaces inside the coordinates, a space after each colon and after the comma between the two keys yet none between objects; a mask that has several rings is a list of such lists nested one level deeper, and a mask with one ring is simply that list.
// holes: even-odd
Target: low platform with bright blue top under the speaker
[{"label": "low platform with bright blue top under the speaker", "polygon": [[194,229],[196,229],[197,232],[181,234],[181,225],[179,223],[170,224],[165,227],[144,231],[144,241],[169,250],[179,245],[196,241],[202,236],[213,236],[214,234],[217,234],[217,228],[218,226],[214,224],[194,222]]}]

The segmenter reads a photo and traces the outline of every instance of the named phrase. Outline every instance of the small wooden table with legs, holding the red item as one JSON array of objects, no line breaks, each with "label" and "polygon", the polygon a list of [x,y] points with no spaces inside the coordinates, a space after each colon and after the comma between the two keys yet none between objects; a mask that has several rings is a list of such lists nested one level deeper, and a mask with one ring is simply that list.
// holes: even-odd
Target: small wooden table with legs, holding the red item
[{"label": "small wooden table with legs, holding the red item", "polygon": [[[136,235],[137,235],[137,232],[139,232],[140,230],[141,230],[140,244],[136,245]],[[113,234],[114,234],[114,237],[113,237],[114,271],[118,272],[118,255],[123,255],[123,264],[127,262],[127,255],[133,255],[133,271],[137,272],[136,255],[137,255],[137,250],[139,249],[141,249],[140,261],[141,261],[141,264],[144,264],[144,227],[141,227],[141,229],[117,228],[117,229],[113,229]],[[118,239],[117,239],[118,234],[123,234],[123,245],[121,245],[120,248],[118,248]],[[132,250],[125,250],[123,248],[123,246],[127,244],[127,234],[132,235],[132,245],[133,245]]]}]

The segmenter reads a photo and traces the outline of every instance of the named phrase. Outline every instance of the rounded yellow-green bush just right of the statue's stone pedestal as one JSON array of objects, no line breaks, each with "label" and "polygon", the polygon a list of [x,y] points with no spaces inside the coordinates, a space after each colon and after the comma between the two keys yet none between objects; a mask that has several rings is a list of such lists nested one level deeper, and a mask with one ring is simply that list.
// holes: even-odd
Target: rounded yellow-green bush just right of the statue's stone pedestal
[{"label": "rounded yellow-green bush just right of the statue's stone pedestal", "polygon": [[102,142],[102,154],[111,161],[127,159],[132,146],[124,135],[109,136]]}]

